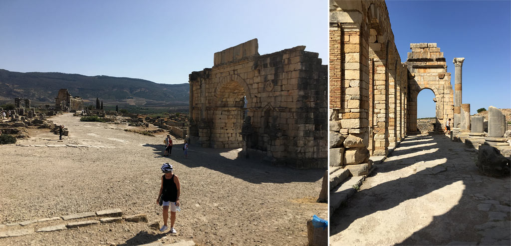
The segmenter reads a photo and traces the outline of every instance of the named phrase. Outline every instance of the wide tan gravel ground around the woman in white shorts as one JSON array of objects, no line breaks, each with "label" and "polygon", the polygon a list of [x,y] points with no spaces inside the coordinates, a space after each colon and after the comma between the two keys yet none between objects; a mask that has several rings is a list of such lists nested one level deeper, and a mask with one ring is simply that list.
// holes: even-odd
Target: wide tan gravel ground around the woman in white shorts
[{"label": "wide tan gravel ground around the woman in white shorts", "polygon": [[[174,141],[168,158],[161,156],[165,133],[143,136],[123,130],[136,127],[80,122],[72,114],[51,120],[64,124],[69,137],[58,141],[48,129],[31,129],[32,137],[17,144],[106,148],[0,146],[4,156],[0,159],[0,224],[108,208],[120,208],[127,215],[146,213],[150,221],[162,224],[161,207],[156,205],[159,167],[170,162],[181,182],[178,235],[130,222],[1,238],[0,245],[134,245],[180,239],[193,239],[199,245],[306,245],[307,219],[313,214],[326,217],[327,204],[315,203],[324,170],[238,160],[239,150],[193,144],[185,159],[182,140]],[[31,227],[44,226],[39,224]],[[11,227],[0,227],[6,230]]]}]

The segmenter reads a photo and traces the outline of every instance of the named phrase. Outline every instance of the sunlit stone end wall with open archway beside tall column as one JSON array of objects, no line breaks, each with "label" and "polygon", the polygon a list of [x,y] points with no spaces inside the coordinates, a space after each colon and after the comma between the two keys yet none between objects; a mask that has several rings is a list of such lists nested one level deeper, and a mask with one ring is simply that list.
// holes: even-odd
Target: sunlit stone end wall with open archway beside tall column
[{"label": "sunlit stone end wall with open archway beside tall column", "polygon": [[451,73],[447,73],[444,52],[436,43],[410,43],[412,52],[406,61],[408,69],[408,131],[417,131],[417,95],[431,90],[436,100],[436,131],[442,131],[446,119],[454,118],[454,94]]}]

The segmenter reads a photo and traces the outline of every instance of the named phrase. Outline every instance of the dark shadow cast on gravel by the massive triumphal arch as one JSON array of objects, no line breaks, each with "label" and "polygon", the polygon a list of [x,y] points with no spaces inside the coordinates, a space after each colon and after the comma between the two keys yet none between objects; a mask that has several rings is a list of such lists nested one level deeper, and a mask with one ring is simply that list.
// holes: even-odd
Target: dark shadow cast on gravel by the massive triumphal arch
[{"label": "dark shadow cast on gravel by the massive triumphal arch", "polygon": [[[144,144],[143,146],[153,148],[153,151],[158,154],[162,154],[165,150],[163,145]],[[172,156],[169,156],[169,159],[190,168],[205,167],[254,184],[316,182],[324,174],[324,169],[300,170],[274,166],[253,159],[236,158],[231,160],[221,155],[235,149],[202,148],[190,145],[188,159],[185,159],[182,148],[183,144],[174,144]],[[167,156],[162,160],[166,158]]]}]

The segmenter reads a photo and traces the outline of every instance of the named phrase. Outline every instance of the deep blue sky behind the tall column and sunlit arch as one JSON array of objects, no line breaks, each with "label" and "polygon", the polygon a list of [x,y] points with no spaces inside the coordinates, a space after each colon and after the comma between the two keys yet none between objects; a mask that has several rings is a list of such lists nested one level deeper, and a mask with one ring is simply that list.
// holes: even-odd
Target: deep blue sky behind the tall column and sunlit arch
[{"label": "deep blue sky behind the tall column and sunlit arch", "polygon": [[[386,1],[401,60],[410,43],[436,42],[454,86],[454,57],[464,57],[462,103],[471,114],[511,108],[511,1]],[[453,87],[454,90],[454,87]],[[423,90],[417,117],[434,117],[434,94]]]}]

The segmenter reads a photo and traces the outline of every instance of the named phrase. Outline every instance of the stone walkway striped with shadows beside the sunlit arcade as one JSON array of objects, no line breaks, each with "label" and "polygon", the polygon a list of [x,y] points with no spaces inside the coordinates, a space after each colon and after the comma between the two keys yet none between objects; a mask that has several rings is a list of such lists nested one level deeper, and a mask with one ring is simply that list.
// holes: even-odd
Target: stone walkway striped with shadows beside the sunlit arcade
[{"label": "stone walkway striped with shadows beside the sunlit arcade", "polygon": [[511,245],[510,178],[476,160],[442,135],[407,137],[331,216],[331,244]]}]

